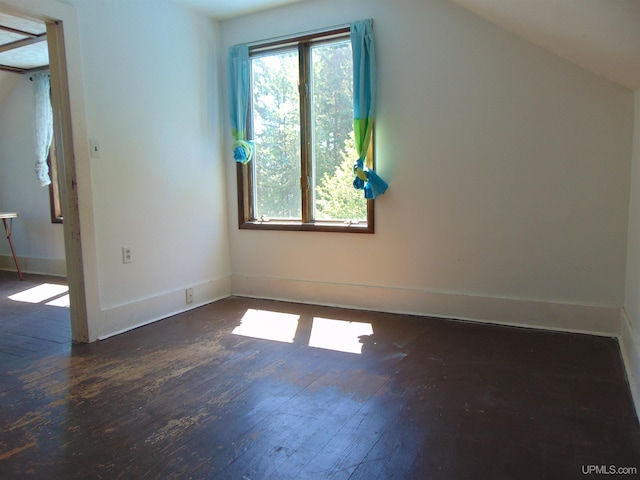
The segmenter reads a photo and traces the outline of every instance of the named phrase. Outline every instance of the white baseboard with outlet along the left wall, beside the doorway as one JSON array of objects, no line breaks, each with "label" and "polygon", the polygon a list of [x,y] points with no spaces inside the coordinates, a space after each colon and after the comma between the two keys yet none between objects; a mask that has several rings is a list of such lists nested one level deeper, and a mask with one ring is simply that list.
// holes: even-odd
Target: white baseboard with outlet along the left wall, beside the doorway
[{"label": "white baseboard with outlet along the left wall, beside the doorway", "polygon": [[231,294],[229,277],[188,287],[193,288],[193,303],[190,304],[186,303],[185,290],[187,286],[185,286],[185,288],[152,298],[103,310],[100,321],[97,324],[89,325],[89,341],[104,340],[178,313],[213,303]]}]

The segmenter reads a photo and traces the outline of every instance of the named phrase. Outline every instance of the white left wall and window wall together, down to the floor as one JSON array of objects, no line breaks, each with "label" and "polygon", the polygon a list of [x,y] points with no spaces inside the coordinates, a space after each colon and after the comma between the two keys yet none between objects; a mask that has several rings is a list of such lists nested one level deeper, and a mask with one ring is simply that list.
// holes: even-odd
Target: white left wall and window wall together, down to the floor
[{"label": "white left wall and window wall together, down to the floor", "polygon": [[[631,92],[445,0],[310,0],[220,31],[166,2],[70,0],[77,20],[54,0],[7,2],[66,22],[91,340],[187,308],[189,286],[196,303],[232,289],[618,331]],[[239,231],[227,47],[365,17],[391,185],[376,234]]]}]

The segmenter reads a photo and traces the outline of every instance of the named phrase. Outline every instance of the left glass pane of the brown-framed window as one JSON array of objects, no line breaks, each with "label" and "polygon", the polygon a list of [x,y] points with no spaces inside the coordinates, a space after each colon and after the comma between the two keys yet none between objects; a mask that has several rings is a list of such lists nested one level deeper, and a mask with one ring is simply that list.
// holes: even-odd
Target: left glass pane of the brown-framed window
[{"label": "left glass pane of the brown-framed window", "polygon": [[252,59],[256,218],[301,219],[298,52]]}]

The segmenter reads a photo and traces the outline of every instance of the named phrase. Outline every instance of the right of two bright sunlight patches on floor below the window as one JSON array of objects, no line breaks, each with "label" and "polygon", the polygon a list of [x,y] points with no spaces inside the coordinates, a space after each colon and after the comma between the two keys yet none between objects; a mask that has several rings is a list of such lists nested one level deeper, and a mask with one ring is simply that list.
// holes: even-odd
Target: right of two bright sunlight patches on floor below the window
[{"label": "right of two bright sunlight patches on floor below the window", "polygon": [[370,323],[315,317],[309,346],[338,352],[362,353],[363,343],[360,337],[367,335],[373,335],[373,326]]}]

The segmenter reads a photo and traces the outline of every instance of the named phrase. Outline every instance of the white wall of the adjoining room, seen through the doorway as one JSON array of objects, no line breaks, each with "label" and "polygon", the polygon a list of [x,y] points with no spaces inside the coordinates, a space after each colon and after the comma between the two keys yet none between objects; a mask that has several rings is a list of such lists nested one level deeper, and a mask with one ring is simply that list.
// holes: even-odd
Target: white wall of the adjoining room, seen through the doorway
[{"label": "white wall of the adjoining room, seen through the doorway", "polygon": [[[0,104],[0,211],[19,214],[13,221],[12,238],[21,268],[64,275],[62,225],[51,223],[49,188],[40,186],[34,168],[33,83],[28,75],[9,75],[12,78],[4,82],[12,88]],[[0,268],[15,268],[4,238],[0,241]]]}]

